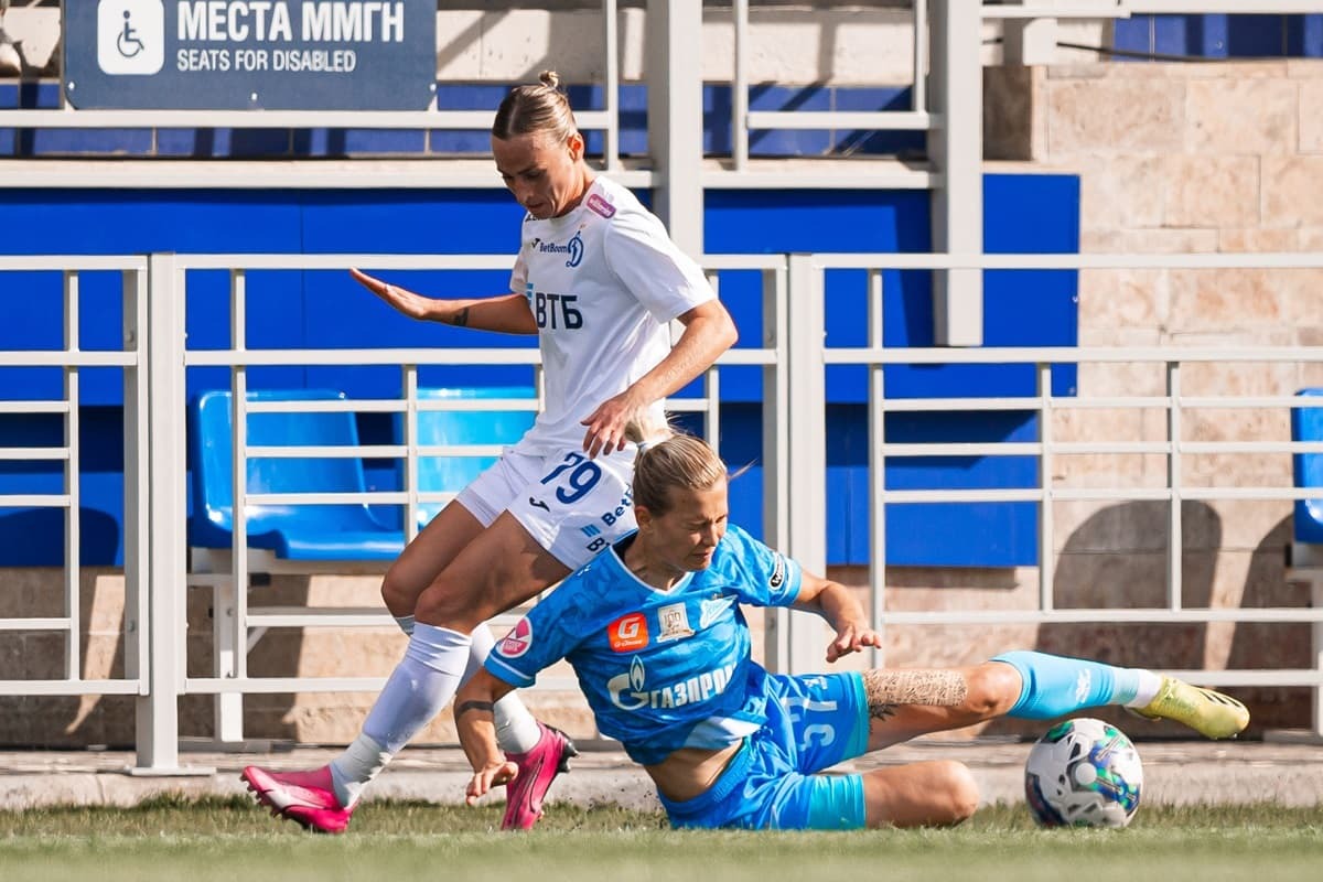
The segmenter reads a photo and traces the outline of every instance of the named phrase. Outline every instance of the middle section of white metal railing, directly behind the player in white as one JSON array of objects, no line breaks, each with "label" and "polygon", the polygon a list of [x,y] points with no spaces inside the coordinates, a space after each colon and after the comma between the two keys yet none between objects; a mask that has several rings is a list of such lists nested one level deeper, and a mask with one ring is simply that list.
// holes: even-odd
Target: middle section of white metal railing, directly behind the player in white
[{"label": "middle section of white metal railing, directly behind the player in white", "polygon": [[[422,447],[417,443],[415,424],[417,414],[423,409],[441,409],[443,405],[435,402],[419,402],[418,399],[418,368],[426,365],[540,365],[537,349],[251,349],[246,345],[245,324],[247,313],[246,282],[247,274],[255,271],[306,271],[306,270],[344,270],[349,266],[369,267],[373,271],[410,271],[410,270],[509,270],[512,258],[497,257],[402,257],[402,255],[177,255],[163,257],[168,266],[163,267],[168,278],[173,278],[183,287],[179,288],[176,303],[187,303],[187,278],[194,270],[226,270],[230,275],[230,349],[188,349],[184,337],[185,316],[181,311],[172,311],[172,329],[167,335],[167,342],[161,345],[161,362],[153,362],[155,368],[168,372],[179,372],[179,383],[183,383],[181,368],[225,366],[230,369],[230,390],[234,401],[234,443],[233,443],[233,473],[246,475],[245,463],[250,456],[269,456],[271,448],[249,448],[243,426],[246,413],[257,410],[343,410],[343,411],[374,411],[396,413],[405,417],[406,439],[414,440],[394,444],[376,446],[364,455],[377,458],[401,459],[405,463],[406,487],[398,492],[373,491],[366,493],[283,493],[275,495],[249,495],[243,481],[235,481],[233,489],[235,526],[234,543],[229,559],[218,561],[221,555],[208,555],[206,573],[198,573],[197,567],[189,575],[175,562],[173,577],[179,584],[185,581],[193,584],[206,584],[213,588],[216,632],[216,669],[209,677],[189,677],[185,674],[184,645],[180,641],[171,653],[160,659],[160,664],[172,669],[167,678],[176,684],[179,694],[216,694],[217,696],[217,735],[220,741],[242,741],[242,707],[241,696],[243,693],[292,693],[292,692],[376,692],[384,685],[384,677],[254,677],[247,670],[247,652],[251,645],[251,635],[257,628],[266,627],[347,627],[347,625],[382,625],[393,624],[384,611],[370,610],[282,610],[282,608],[249,608],[249,592],[238,590],[235,586],[246,586],[253,571],[253,554],[246,551],[245,518],[239,513],[247,504],[337,504],[337,502],[364,502],[364,504],[394,504],[406,508],[405,524],[407,536],[411,538],[417,522],[417,506],[425,501],[445,501],[439,496],[421,493],[417,487],[418,473],[417,460],[419,456],[431,456],[450,451]],[[704,394],[699,398],[677,398],[668,402],[676,411],[699,411],[704,415],[705,434],[716,443],[720,432],[718,410],[718,383],[722,366],[746,365],[759,366],[765,374],[765,389],[769,390],[769,431],[763,436],[766,471],[765,499],[767,500],[769,514],[766,529],[770,536],[779,536],[779,508],[775,502],[779,487],[783,485],[786,456],[783,443],[779,442],[777,403],[785,401],[781,391],[783,372],[783,344],[779,340],[785,327],[783,304],[787,301],[785,290],[786,259],[782,255],[767,257],[712,257],[705,261],[705,268],[713,283],[718,283],[724,271],[755,271],[762,274],[763,313],[765,313],[765,340],[762,346],[740,348],[726,356],[717,366],[706,372],[704,377]],[[257,366],[275,365],[353,365],[353,366],[398,366],[402,372],[398,399],[390,401],[337,401],[337,402],[302,402],[299,405],[274,405],[246,402],[247,372]],[[490,402],[491,406],[501,402]],[[501,405],[504,406],[504,405]],[[184,426],[181,421],[175,421],[168,428],[171,434],[169,444],[181,448],[184,443]],[[327,456],[336,455],[336,450],[318,447],[280,447],[282,456]],[[482,451],[468,451],[479,454]],[[179,499],[172,501],[172,506],[183,505],[180,492]],[[183,537],[175,537],[176,545]],[[194,557],[194,559],[197,559]],[[173,558],[172,558],[173,561]],[[284,569],[274,569],[271,561],[263,562],[267,573],[314,573],[314,571],[345,571],[345,562],[340,565],[329,563],[323,567],[310,567],[304,563]],[[353,562],[348,562],[353,563]],[[373,571],[373,567],[368,567]],[[355,571],[364,571],[355,567]],[[173,625],[172,632],[183,633],[184,610],[172,608],[168,614]],[[548,680],[542,684],[550,689],[574,689],[569,682]]]}]

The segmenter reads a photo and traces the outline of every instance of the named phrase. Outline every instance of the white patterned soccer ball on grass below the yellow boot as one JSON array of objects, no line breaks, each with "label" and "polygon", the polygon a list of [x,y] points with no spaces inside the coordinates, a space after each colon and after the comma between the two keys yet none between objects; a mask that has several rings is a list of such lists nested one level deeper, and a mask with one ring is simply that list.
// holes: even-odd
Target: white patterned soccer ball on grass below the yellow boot
[{"label": "white patterned soccer ball on grass below the yellow boot", "polygon": [[1126,734],[1101,719],[1057,723],[1024,766],[1024,795],[1044,826],[1126,826],[1144,768]]}]

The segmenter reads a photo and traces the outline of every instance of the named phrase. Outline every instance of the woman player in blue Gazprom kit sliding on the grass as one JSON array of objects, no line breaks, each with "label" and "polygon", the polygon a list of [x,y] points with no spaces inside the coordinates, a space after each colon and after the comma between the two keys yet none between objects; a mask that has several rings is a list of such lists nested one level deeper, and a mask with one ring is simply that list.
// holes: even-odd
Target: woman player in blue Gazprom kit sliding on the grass
[{"label": "woman player in blue Gazprom kit sliding on the grass", "polygon": [[749,657],[741,603],[820,614],[836,629],[828,661],[880,637],[844,586],[728,525],[726,467],[703,440],[675,435],[640,452],[634,504],[638,532],[538,603],[456,696],[470,803],[523,774],[497,750],[492,703],[562,657],[598,729],[643,764],[676,826],[958,822],[978,805],[960,763],[816,772],[994,717],[1126,705],[1209,738],[1249,722],[1233,698],[1172,677],[1027,651],[971,668],[770,674]]}]

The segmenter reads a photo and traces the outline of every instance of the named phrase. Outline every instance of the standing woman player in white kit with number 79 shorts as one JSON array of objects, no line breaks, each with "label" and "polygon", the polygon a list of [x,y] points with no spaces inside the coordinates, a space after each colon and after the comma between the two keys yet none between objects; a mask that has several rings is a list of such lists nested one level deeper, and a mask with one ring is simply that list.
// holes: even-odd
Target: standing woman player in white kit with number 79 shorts
[{"label": "standing woman player in white kit with number 79 shorts", "polygon": [[[492,155],[528,212],[512,294],[439,300],[353,274],[415,319],[538,335],[545,410],[386,573],[381,592],[409,648],[359,738],[319,770],[243,770],[258,801],[306,828],[345,829],[363,787],[482,665],[492,645],[487,619],[634,529],[636,447],[626,426],[663,423],[662,399],[736,341],[700,267],[634,194],[583,161],[583,136],[554,73],[505,97]],[[684,325],[673,348],[672,320]],[[517,700],[497,707],[497,729],[519,767],[503,828],[527,829],[574,748]]]}]

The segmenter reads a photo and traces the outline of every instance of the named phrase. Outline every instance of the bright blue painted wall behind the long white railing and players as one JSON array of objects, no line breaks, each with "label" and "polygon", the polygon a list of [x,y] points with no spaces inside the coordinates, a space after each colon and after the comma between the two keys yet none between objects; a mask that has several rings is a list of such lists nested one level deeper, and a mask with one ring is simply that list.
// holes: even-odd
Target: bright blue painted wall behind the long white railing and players
[{"label": "bright blue painted wall behind the long white railing and players", "polygon": [[[644,194],[646,197],[646,194]],[[15,190],[7,194],[21,222],[0,243],[4,253],[147,253],[157,251],[405,251],[423,254],[512,253],[519,208],[501,192],[266,192],[214,190],[114,192]],[[1033,176],[987,184],[988,247],[1012,251],[1073,250],[1078,188],[1073,179]],[[929,249],[926,193],[859,192],[714,192],[709,193],[706,247],[713,253],[785,251],[925,251]],[[366,267],[370,270],[370,267]],[[504,271],[392,272],[421,291],[497,294],[507,290]],[[1000,276],[1000,279],[999,279]],[[61,345],[61,282],[58,274],[12,274],[3,278],[11,320],[0,325],[0,348],[58,348]],[[445,287],[443,287],[445,286]],[[828,324],[835,345],[855,340],[864,305],[864,274],[840,272],[830,279]],[[363,345],[478,346],[532,345],[531,339],[479,335],[398,316],[341,272],[255,271],[247,276],[251,348]],[[1073,274],[990,274],[988,340],[995,345],[1052,344],[1074,340]],[[1045,321],[1025,327],[1009,320],[1035,298],[1035,315]],[[744,328],[744,345],[761,339],[759,274],[730,272],[722,278],[722,298]],[[229,279],[226,272],[194,271],[189,276],[187,329],[194,348],[229,345]],[[892,274],[886,291],[888,345],[931,341],[931,305],[922,272]],[[120,291],[116,274],[85,274],[82,283],[82,345],[118,348]],[[423,385],[483,382],[528,383],[527,368],[427,369]],[[60,397],[61,372],[53,369],[0,372],[7,398]],[[394,395],[396,368],[266,368],[250,372],[250,385],[331,386],[352,397]],[[192,369],[188,389],[225,386],[225,369]],[[830,397],[830,559],[867,561],[867,432],[863,385],[848,369],[828,374]],[[1032,369],[1009,368],[995,382],[987,372],[968,374],[951,368],[897,368],[888,377],[892,394],[995,394],[1003,387],[1032,383]],[[1009,385],[1009,386],[1007,386]],[[85,562],[122,561],[122,428],[119,370],[83,372],[85,450],[105,451],[98,465],[85,463]],[[722,374],[722,454],[736,464],[755,463],[761,407],[757,369]],[[967,430],[968,440],[1019,438],[1036,431],[1032,417],[1007,414],[1002,422],[953,418],[950,430]],[[380,423],[380,424],[378,424]],[[58,421],[37,421],[49,438],[33,442],[15,422],[0,426],[0,444],[58,443]],[[392,440],[389,421],[364,418],[365,440]],[[931,431],[930,422],[893,415],[894,439]],[[44,435],[44,438],[46,436]],[[26,439],[26,440],[25,440]],[[1025,461],[1029,464],[1027,465]],[[889,463],[888,481],[909,487],[1032,485],[1032,460],[972,463]],[[394,487],[392,463],[369,463],[374,487]],[[737,520],[758,525],[761,485],[757,473],[734,489]],[[0,469],[0,492],[60,492],[58,463],[8,464]],[[962,484],[974,481],[974,484]],[[1029,481],[1025,484],[1024,481]],[[52,520],[54,518],[54,520]],[[58,512],[0,512],[0,562],[58,565],[62,554]],[[54,526],[52,526],[54,525]],[[892,563],[1009,566],[1036,559],[1033,506],[908,506],[889,518]],[[56,529],[58,528],[58,529]],[[970,537],[946,549],[941,536]]]}]

